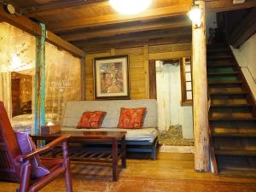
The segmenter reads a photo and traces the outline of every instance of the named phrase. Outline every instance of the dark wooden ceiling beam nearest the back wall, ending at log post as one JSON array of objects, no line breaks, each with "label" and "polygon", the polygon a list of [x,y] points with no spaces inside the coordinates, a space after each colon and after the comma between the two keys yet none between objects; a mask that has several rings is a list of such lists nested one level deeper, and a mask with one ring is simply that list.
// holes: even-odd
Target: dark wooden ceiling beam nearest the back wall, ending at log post
[{"label": "dark wooden ceiling beam nearest the back wall, ending at log post", "polygon": [[85,41],[79,41],[73,44],[76,44],[78,47],[88,46],[90,44],[119,44],[124,41],[137,41],[141,39],[150,39],[150,38],[175,38],[180,34],[192,34],[191,27],[180,27],[169,30],[160,30],[152,32],[136,32],[123,35],[115,35],[108,38],[93,38]]}]

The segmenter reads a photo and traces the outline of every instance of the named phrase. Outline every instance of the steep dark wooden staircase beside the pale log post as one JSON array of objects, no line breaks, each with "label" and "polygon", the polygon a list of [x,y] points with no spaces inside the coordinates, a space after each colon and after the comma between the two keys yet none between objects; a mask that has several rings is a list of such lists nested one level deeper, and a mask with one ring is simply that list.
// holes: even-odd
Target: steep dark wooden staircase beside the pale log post
[{"label": "steep dark wooden staircase beside the pale log post", "polygon": [[256,107],[227,44],[207,47],[212,164],[215,173],[256,177]]}]

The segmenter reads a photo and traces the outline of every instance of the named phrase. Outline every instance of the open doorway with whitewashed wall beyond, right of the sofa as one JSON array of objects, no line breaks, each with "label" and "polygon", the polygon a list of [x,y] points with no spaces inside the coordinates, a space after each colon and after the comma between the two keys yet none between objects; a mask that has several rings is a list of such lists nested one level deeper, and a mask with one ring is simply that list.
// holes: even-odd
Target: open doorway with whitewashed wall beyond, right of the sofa
[{"label": "open doorway with whitewashed wall beyond, right of the sofa", "polygon": [[149,61],[150,98],[158,102],[160,144],[192,146],[192,77],[190,58]]}]

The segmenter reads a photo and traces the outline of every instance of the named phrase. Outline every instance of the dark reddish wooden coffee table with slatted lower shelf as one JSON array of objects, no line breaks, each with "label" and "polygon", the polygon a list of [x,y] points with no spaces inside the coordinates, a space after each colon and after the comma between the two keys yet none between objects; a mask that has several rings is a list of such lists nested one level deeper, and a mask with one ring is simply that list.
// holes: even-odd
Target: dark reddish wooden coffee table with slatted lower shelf
[{"label": "dark reddish wooden coffee table with slatted lower shelf", "polygon": [[[70,146],[69,159],[72,161],[85,161],[94,163],[111,163],[113,167],[113,181],[118,180],[118,161],[121,159],[122,168],[126,168],[126,144],[125,131],[60,131],[55,134],[31,134],[32,139],[51,141],[62,135],[71,135],[68,139],[69,143],[102,143],[110,144],[109,149],[84,149],[83,147]],[[119,150],[119,143],[121,148]],[[61,157],[61,148],[53,149],[44,157]]]}]

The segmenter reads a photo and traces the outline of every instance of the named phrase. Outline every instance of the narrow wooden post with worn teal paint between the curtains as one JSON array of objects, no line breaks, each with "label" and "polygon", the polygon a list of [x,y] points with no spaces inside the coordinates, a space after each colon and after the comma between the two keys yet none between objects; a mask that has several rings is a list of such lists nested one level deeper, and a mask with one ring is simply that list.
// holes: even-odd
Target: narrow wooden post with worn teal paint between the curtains
[{"label": "narrow wooden post with worn teal paint between the curtains", "polygon": [[45,25],[41,26],[41,36],[36,38],[36,79],[35,79],[35,133],[45,124]]}]

